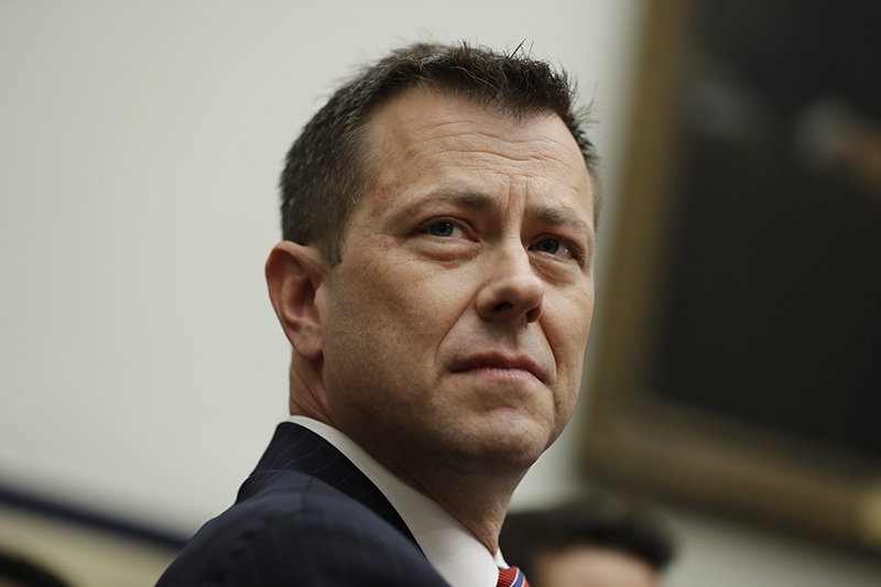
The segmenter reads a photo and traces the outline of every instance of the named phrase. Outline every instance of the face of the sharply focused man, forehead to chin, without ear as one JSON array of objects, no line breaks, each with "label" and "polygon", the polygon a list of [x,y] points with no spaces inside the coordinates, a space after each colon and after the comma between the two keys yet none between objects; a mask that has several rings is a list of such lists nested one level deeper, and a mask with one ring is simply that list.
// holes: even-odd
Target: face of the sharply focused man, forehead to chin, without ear
[{"label": "face of the sharply focused man, forehead to chin, without ear", "polygon": [[556,116],[423,90],[366,140],[378,181],[320,302],[334,417],[399,474],[524,471],[572,415],[594,311],[578,146]]}]

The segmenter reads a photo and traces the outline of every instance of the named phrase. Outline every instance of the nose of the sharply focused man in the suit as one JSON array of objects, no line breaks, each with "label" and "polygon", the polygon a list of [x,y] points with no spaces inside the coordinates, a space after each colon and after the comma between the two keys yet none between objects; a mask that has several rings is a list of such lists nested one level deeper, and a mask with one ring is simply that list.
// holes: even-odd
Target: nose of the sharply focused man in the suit
[{"label": "nose of the sharply focused man in the suit", "polygon": [[542,315],[544,282],[520,242],[487,258],[485,282],[477,294],[477,313],[489,322],[529,324]]}]

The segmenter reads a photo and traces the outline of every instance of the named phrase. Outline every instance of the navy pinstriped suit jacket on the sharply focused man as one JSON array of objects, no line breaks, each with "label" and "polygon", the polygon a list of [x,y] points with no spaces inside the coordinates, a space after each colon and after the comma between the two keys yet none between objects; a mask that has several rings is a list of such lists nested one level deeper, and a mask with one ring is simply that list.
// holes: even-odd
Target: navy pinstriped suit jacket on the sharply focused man
[{"label": "navy pinstriped suit jacket on the sharply focused man", "polygon": [[286,422],[236,504],[196,533],[157,587],[209,585],[448,587],[379,489]]}]

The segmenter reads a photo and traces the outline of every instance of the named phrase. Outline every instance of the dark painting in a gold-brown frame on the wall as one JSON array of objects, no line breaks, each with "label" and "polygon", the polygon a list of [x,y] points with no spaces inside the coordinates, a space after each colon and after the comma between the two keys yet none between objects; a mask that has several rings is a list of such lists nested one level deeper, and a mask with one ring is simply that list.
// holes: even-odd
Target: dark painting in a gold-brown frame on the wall
[{"label": "dark painting in a gold-brown frame on the wall", "polygon": [[[822,2],[817,0],[814,3]],[[873,367],[873,362],[881,362],[881,348],[878,345],[881,314],[877,309],[877,306],[881,306],[881,295],[877,297],[877,304],[873,302],[874,294],[881,294],[879,280],[873,276],[877,268],[881,275],[881,247],[875,237],[875,233],[881,235],[881,206],[875,204],[881,203],[881,196],[878,196],[878,186],[860,183],[859,177],[855,180],[855,175],[848,174],[848,170],[842,170],[841,166],[829,164],[829,169],[819,169],[822,165],[817,164],[817,169],[805,167],[801,155],[791,152],[790,143],[786,142],[788,139],[780,139],[798,131],[796,127],[800,122],[796,119],[801,115],[796,116],[796,110],[801,106],[796,108],[787,102],[781,110],[796,113],[790,118],[774,116],[773,100],[763,99],[764,87],[761,84],[758,86],[762,91],[740,94],[746,95],[740,104],[741,109],[749,109],[753,102],[759,104],[759,107],[751,110],[751,118],[743,119],[746,122],[738,119],[740,123],[728,135],[725,135],[725,124],[721,124],[721,131],[714,130],[715,134],[706,129],[701,134],[688,126],[685,120],[701,106],[688,102],[685,107],[684,102],[687,100],[684,96],[695,87],[696,76],[704,75],[700,79],[704,81],[706,72],[711,69],[706,65],[711,61],[707,58],[707,53],[711,51],[707,48],[706,40],[701,39],[701,26],[706,25],[710,4],[718,7],[724,2],[654,0],[648,3],[643,57],[631,117],[630,148],[618,202],[620,220],[617,226],[608,227],[614,230],[611,238],[611,270],[606,278],[608,282],[603,284],[606,295],[599,300],[595,323],[595,336],[600,347],[596,350],[595,367],[589,381],[588,422],[584,443],[586,471],[591,479],[613,487],[700,504],[737,517],[833,539],[844,544],[881,548],[881,453],[877,450],[881,443],[881,423],[877,432],[871,424],[875,416],[881,416],[878,399],[881,396],[881,379],[878,368]],[[757,3],[748,1],[729,4],[742,11],[749,9],[746,4]],[[769,6],[772,8],[761,15],[765,19],[759,19],[761,23],[766,21],[773,24],[773,19],[780,18],[780,14],[773,13],[774,7],[786,9],[784,0],[765,2],[764,6],[762,10]],[[875,10],[874,15],[881,17],[881,13]],[[718,21],[719,14],[716,17]],[[866,14],[867,19],[870,17],[872,15]],[[742,22],[732,24],[743,25]],[[725,51],[730,51],[733,55],[748,54],[749,47],[742,48],[738,43],[749,39],[755,41],[758,36],[743,35],[742,31],[735,33],[730,35],[730,43],[724,47]],[[760,31],[757,35],[760,33],[764,34]],[[781,37],[780,34],[774,34],[774,39]],[[857,46],[852,50],[858,48]],[[718,59],[713,65],[717,66]],[[717,67],[719,68],[725,69]],[[737,75],[729,77],[731,78],[738,83],[749,79],[748,76]],[[762,79],[761,76],[757,78],[760,81]],[[774,79],[773,76],[769,78]],[[788,89],[795,86],[782,87]],[[733,96],[736,91],[731,90],[729,94]],[[751,95],[761,99],[751,101]],[[794,100],[791,101],[794,104]],[[806,99],[805,102],[809,100]],[[737,119],[737,108],[733,110],[731,116]],[[875,116],[877,112],[866,113],[873,121],[877,121],[872,118]],[[714,123],[719,120],[718,117],[710,117]],[[750,120],[755,124],[750,124]],[[732,124],[730,127],[735,128]],[[718,169],[714,165],[718,165]],[[701,170],[706,172],[704,176]],[[724,178],[729,173],[742,184],[733,181],[725,183]],[[769,181],[763,175],[765,173],[772,173],[773,177],[780,180],[780,184]],[[719,185],[711,182],[718,182]],[[698,206],[694,205],[695,194],[701,194],[704,192],[700,189],[704,189],[720,194],[719,198],[727,197],[729,203],[738,198],[738,205],[730,209],[743,209],[749,205],[749,198],[740,198],[740,195],[761,192],[750,189],[753,185],[750,182],[759,186],[773,185],[775,193],[788,193],[787,186],[791,184],[787,182],[804,184],[808,188],[800,188],[795,208],[774,204],[777,200],[772,202],[769,199],[771,196],[762,196],[765,199],[759,202],[757,196],[755,205],[761,206],[762,210],[772,211],[744,214],[746,219],[741,219],[743,222],[752,221],[755,217],[771,218],[776,225],[771,225],[769,233],[774,233],[776,226],[781,224],[773,216],[773,208],[777,206],[786,213],[785,218],[798,217],[797,222],[792,224],[795,227],[793,230],[801,230],[797,227],[804,228],[805,225],[798,222],[802,222],[802,216],[808,218],[808,213],[793,215],[790,210],[809,208],[811,194],[806,195],[805,192],[816,188],[818,209],[825,202],[830,202],[828,194],[836,194],[833,213],[823,214],[835,216],[839,214],[838,210],[844,210],[840,211],[840,224],[848,238],[850,233],[859,236],[864,232],[864,238],[855,240],[857,244],[853,244],[860,251],[857,257],[862,264],[855,261],[853,268],[848,265],[839,271],[840,263],[833,263],[835,271],[831,273],[836,275],[834,284],[844,285],[830,287],[831,293],[828,294],[845,296],[840,304],[831,304],[835,308],[840,305],[848,312],[852,307],[857,308],[853,312],[860,312],[855,314],[857,317],[853,322],[862,338],[856,337],[858,340],[855,341],[856,335],[849,330],[835,330],[838,327],[844,328],[841,325],[848,322],[847,317],[841,317],[845,312],[841,308],[833,308],[838,314],[833,309],[823,314],[830,316],[827,322],[828,328],[833,330],[827,328],[816,335],[820,341],[835,341],[829,349],[840,350],[840,360],[851,361],[853,357],[861,358],[863,355],[867,357],[864,365],[851,366],[839,361],[823,367],[830,372],[840,373],[836,379],[841,381],[840,384],[830,383],[831,387],[817,387],[816,390],[805,387],[820,379],[815,373],[825,373],[818,371],[820,367],[817,366],[825,357],[834,354],[831,350],[815,348],[815,358],[795,345],[786,347],[792,348],[794,357],[790,365],[786,362],[787,356],[779,351],[785,345],[769,343],[775,340],[776,330],[772,323],[776,316],[785,316],[787,312],[800,316],[796,314],[802,312],[800,303],[815,304],[809,296],[804,300],[798,296],[792,303],[755,302],[780,309],[771,319],[762,318],[763,322],[758,322],[758,326],[750,323],[748,331],[754,333],[754,339],[741,346],[749,347],[752,351],[765,349],[762,346],[765,344],[771,350],[761,350],[761,355],[757,357],[761,359],[771,356],[772,359],[768,361],[770,366],[755,367],[761,360],[746,360],[724,346],[735,344],[732,340],[737,338],[738,324],[722,324],[720,327],[728,329],[720,330],[718,338],[701,330],[707,328],[706,316],[728,314],[728,308],[741,303],[726,301],[717,302],[715,306],[710,304],[698,307],[708,297],[704,295],[706,291],[711,290],[704,279],[707,276],[707,267],[725,267],[726,274],[719,282],[728,283],[724,280],[728,279],[729,273],[737,270],[759,272],[761,268],[757,269],[757,265],[762,262],[761,259],[772,258],[774,253],[766,239],[762,240],[761,232],[755,232],[759,235],[753,239],[758,251],[755,254],[761,257],[759,263],[744,262],[741,263],[744,267],[740,268],[735,267],[737,261],[730,261],[729,264],[718,261],[715,265],[692,263],[692,272],[697,276],[693,275],[692,281],[686,279],[688,263],[692,261],[683,251],[689,250],[688,247],[694,250],[697,243],[697,248],[703,249],[703,242],[709,242],[701,251],[706,253],[705,257],[717,260],[741,259],[735,252],[739,256],[749,254],[748,251],[743,252],[742,243],[735,252],[721,249],[717,251],[713,247],[717,242],[726,241],[719,237],[726,235],[726,231],[730,230],[733,235],[729,240],[736,240],[743,230],[752,230],[744,229],[746,225],[732,228],[731,224],[708,224],[707,215],[714,211],[703,210],[699,214],[704,216],[696,216],[698,213],[695,209]],[[875,197],[877,200],[873,199]],[[706,203],[708,199],[710,198],[703,198],[700,202]],[[739,221],[731,219],[736,215],[730,209],[716,211],[725,217],[726,222]],[[772,220],[766,220],[765,224]],[[857,226],[851,230],[849,227],[857,220],[864,220],[864,227]],[[813,220],[804,220],[809,221]],[[831,226],[835,237],[836,220],[824,217],[823,221],[824,230]],[[692,236],[688,232],[692,225],[705,228],[709,226],[710,229],[705,231],[711,233],[699,235],[704,240],[695,240],[697,237],[694,231]],[[786,238],[788,242],[801,237]],[[822,238],[823,236],[820,240]],[[835,240],[837,242],[848,239]],[[842,247],[850,246],[848,242]],[[831,257],[835,254],[855,257],[836,250],[828,254],[831,259],[836,259]],[[790,265],[785,265],[780,271],[769,271],[771,274],[785,276],[790,271]],[[794,261],[793,267],[797,267],[797,261]],[[848,281],[850,275],[863,274],[868,275],[868,281]],[[748,280],[738,278],[738,281]],[[760,289],[779,296],[786,287],[792,286],[791,282],[761,283],[765,286]],[[730,293],[728,287],[722,289]],[[852,300],[857,291],[866,300],[862,306],[858,300]],[[703,297],[688,297],[698,294]],[[743,293],[731,295],[740,298],[747,296]],[[784,296],[784,300],[787,298]],[[760,312],[757,308],[765,306],[744,307],[743,316],[736,315],[731,309],[735,316],[729,316],[730,320],[749,323],[758,319]],[[700,316],[700,319],[695,316]],[[692,318],[697,325],[683,326],[683,320]],[[813,320],[808,326],[823,323],[822,317],[805,318]],[[803,341],[807,336],[814,336],[813,330],[805,330],[808,334],[800,334],[797,328],[792,330]],[[689,336],[693,338],[689,339]],[[879,351],[877,361],[872,358],[874,350]],[[695,357],[693,369],[688,368],[682,356]],[[733,357],[730,359],[733,365],[725,362],[729,357]],[[679,371],[675,371],[677,361],[684,365]],[[761,384],[753,387],[744,383],[752,381],[743,374],[748,372],[748,368],[759,369],[754,377]],[[707,372],[703,373],[701,369]],[[730,369],[730,372],[726,372],[726,369]],[[782,373],[782,383],[774,379],[777,377],[775,369]],[[666,391],[661,392],[660,388],[664,385]],[[787,385],[793,389],[784,389]],[[809,403],[812,398],[817,398],[817,405],[808,406],[813,412],[798,402],[800,389],[806,390],[802,396],[805,402]],[[826,389],[831,391],[824,391]],[[741,398],[742,406],[737,403]],[[776,412],[774,402],[780,404]],[[798,402],[800,405],[791,409],[793,402]],[[828,417],[823,417],[823,406],[828,406]],[[755,411],[751,412],[753,409]],[[793,414],[792,421],[785,421],[781,414]],[[879,421],[881,422],[881,417]]]}]

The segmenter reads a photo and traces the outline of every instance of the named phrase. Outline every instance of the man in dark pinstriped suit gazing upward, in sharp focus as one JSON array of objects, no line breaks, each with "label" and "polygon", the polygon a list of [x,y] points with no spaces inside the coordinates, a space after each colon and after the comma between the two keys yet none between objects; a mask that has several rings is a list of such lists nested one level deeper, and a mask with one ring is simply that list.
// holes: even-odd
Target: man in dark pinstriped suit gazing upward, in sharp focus
[{"label": "man in dark pinstriped suit gazing upward, in sharp focus", "polygon": [[417,44],[334,94],[267,262],[291,421],[160,585],[521,585],[498,535],[578,395],[595,165],[526,56]]}]

